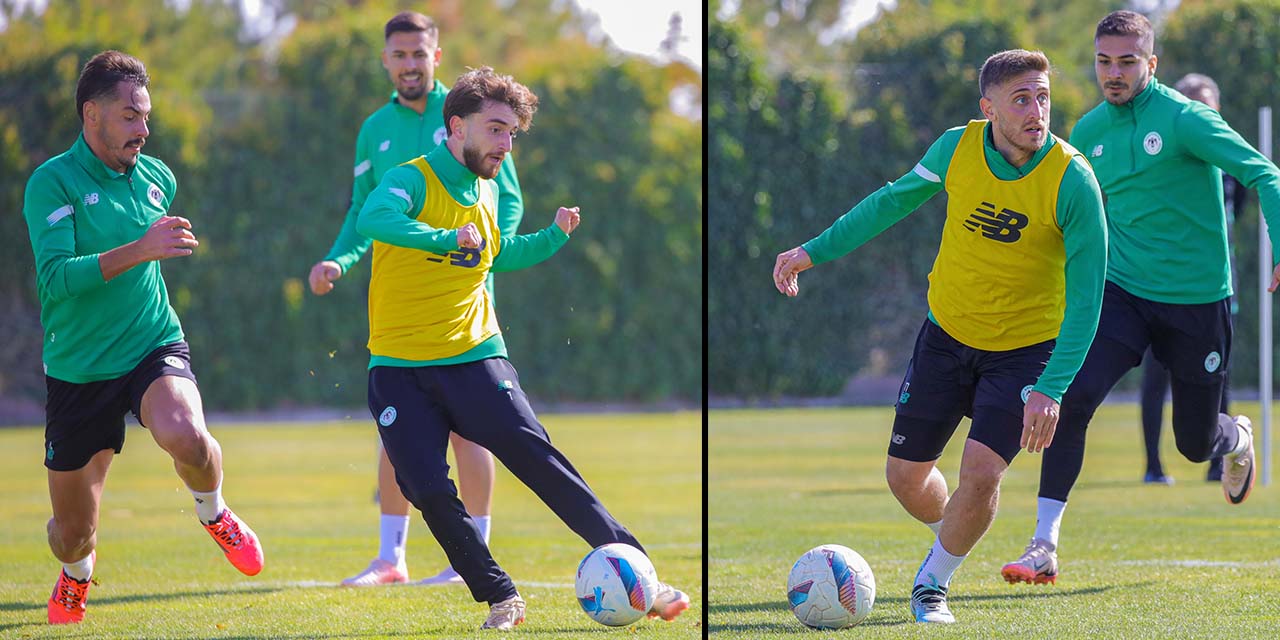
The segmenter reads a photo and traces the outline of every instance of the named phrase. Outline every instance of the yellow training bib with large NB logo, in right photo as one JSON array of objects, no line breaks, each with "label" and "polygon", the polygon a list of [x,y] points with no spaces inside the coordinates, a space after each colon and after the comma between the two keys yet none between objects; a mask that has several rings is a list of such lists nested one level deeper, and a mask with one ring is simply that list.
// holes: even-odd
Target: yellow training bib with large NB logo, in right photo
[{"label": "yellow training bib with large NB logo, in right photo", "polygon": [[947,169],[947,219],[929,273],[929,311],[952,338],[1009,351],[1056,338],[1066,296],[1057,192],[1079,152],[1055,136],[1016,180],[987,166],[987,120],[970,120]]}]

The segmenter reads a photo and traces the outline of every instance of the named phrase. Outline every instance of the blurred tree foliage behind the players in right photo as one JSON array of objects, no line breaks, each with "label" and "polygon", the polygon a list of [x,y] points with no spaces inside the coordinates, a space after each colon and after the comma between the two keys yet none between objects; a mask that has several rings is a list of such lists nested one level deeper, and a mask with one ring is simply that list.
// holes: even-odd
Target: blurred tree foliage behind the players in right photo
[{"label": "blurred tree foliage behind the players in right photo", "polygon": [[[803,274],[796,300],[773,288],[774,256],[909,172],[945,129],[980,118],[978,70],[998,50],[1048,55],[1052,129],[1068,138],[1100,99],[1097,20],[1124,8],[1108,0],[900,0],[855,38],[826,42],[838,5],[741,0],[731,15],[721,3],[710,6],[713,396],[833,396],[858,374],[900,376],[927,311],[945,196],[854,256]],[[1158,76],[1169,83],[1185,70],[1215,76],[1228,120],[1256,140],[1257,106],[1276,104],[1280,86],[1277,8],[1276,0],[1181,3],[1157,20]],[[1251,255],[1257,260],[1247,247],[1256,242],[1256,214],[1243,216],[1238,230],[1242,269],[1256,269],[1244,264]],[[1242,273],[1254,280],[1252,270]],[[1244,292],[1236,344],[1254,344],[1256,330],[1256,300]],[[1256,370],[1242,367],[1256,361],[1245,351],[1235,352],[1236,381],[1257,384]]]}]

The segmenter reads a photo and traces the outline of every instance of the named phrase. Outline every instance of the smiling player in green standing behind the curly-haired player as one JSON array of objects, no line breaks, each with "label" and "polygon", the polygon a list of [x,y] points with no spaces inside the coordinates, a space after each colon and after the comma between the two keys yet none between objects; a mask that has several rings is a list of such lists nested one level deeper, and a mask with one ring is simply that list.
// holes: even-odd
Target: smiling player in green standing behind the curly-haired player
[{"label": "smiling player in green standing behind the curly-haired player", "polygon": [[[356,138],[355,182],[351,207],[333,248],[311,268],[311,292],[324,296],[369,251],[369,238],[356,233],[356,218],[369,193],[390,168],[435,148],[444,140],[440,109],[448,88],[435,79],[440,64],[439,31],[435,22],[420,13],[402,12],[387,22],[383,68],[396,91],[381,109],[360,127]],[[516,165],[508,159],[494,177],[498,187],[498,230],[503,237],[516,233],[525,205],[520,193]],[[493,278],[485,282],[493,297]],[[453,456],[458,463],[458,484],[467,512],[489,541],[493,502],[493,456],[483,447],[452,434]],[[347,586],[371,586],[408,581],[404,547],[408,538],[410,504],[396,485],[396,471],[387,452],[378,452],[378,495],[381,511],[378,557],[360,573],[343,580]],[[453,567],[422,580],[424,585],[462,584]]]}]

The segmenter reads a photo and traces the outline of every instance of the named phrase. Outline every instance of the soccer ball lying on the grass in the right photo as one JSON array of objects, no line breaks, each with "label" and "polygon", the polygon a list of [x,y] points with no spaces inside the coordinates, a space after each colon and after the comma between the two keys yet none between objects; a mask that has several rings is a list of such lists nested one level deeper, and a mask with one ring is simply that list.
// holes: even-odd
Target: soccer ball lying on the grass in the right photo
[{"label": "soccer ball lying on the grass in the right photo", "polygon": [[876,576],[858,552],[824,544],[805,552],[787,576],[791,613],[814,628],[845,628],[863,621],[876,602]]}]

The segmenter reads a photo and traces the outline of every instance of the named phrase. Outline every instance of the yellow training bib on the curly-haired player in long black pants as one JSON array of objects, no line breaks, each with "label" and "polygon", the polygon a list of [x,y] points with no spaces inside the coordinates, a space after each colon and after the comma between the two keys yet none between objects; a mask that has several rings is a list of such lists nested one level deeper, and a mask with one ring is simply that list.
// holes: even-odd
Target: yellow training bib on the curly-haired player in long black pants
[{"label": "yellow training bib on the curly-haired player in long black pants", "polygon": [[480,197],[466,206],[440,183],[425,157],[411,160],[426,182],[417,221],[436,229],[475,223],[479,250],[444,255],[374,241],[369,283],[369,352],[402,360],[458,356],[498,334],[485,276],[498,255],[500,236],[493,186],[480,180]]}]

